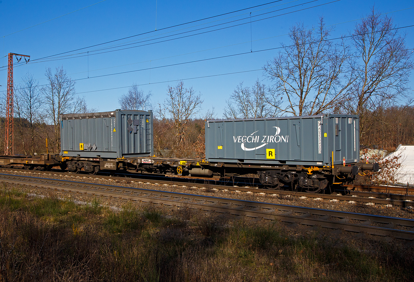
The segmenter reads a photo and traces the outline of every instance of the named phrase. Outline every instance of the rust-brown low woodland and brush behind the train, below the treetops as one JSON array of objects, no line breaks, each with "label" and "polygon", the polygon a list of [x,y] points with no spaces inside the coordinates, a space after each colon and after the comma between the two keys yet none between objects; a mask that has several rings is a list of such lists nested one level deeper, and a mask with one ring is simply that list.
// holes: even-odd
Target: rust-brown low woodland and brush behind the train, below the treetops
[{"label": "rust-brown low woodland and brush behind the train, below the treetops", "polygon": [[[180,156],[203,158],[205,150],[205,119],[191,118],[184,128],[182,140],[176,142],[172,119],[154,118],[154,152],[161,157]],[[5,119],[0,119],[0,150],[4,152]],[[32,130],[34,134],[32,135]],[[46,153],[46,138],[53,139],[53,126],[30,124],[26,119],[14,119],[14,153],[33,155]],[[380,117],[370,121],[370,128],[361,136],[361,148],[394,151],[399,144],[414,144],[414,107],[390,107]],[[49,143],[49,153],[58,153]]]}]

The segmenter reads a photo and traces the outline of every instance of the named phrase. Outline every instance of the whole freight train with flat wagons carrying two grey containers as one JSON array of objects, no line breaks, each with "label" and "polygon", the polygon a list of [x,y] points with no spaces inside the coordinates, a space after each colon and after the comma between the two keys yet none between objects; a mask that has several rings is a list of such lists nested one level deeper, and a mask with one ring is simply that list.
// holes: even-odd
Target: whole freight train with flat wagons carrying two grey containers
[{"label": "whole freight train with flat wagons carrying two grey containers", "polygon": [[1,156],[0,165],[207,179],[254,174],[267,189],[309,193],[379,169],[378,163],[359,162],[357,115],[207,120],[204,159],[155,156],[152,111],[63,114],[60,136],[60,154]]}]

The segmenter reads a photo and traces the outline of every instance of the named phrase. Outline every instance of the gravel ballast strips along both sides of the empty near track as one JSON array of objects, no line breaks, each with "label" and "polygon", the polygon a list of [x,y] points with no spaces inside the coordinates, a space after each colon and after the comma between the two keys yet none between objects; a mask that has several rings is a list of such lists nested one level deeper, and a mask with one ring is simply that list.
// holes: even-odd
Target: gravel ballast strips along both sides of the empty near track
[{"label": "gravel ballast strips along both sides of the empty near track", "polygon": [[[208,189],[208,188],[198,188],[192,186],[177,186],[177,185],[166,185],[166,184],[149,184],[142,182],[134,182],[128,180],[113,180],[113,179],[96,179],[89,176],[82,175],[73,175],[73,176],[63,176],[58,174],[42,174],[38,172],[14,172],[7,171],[6,174],[15,174],[15,175],[24,175],[24,176],[35,176],[35,177],[44,177],[51,179],[62,179],[62,180],[71,180],[71,181],[82,181],[89,183],[97,184],[109,184],[114,186],[126,186],[132,188],[144,188],[144,189],[153,189],[153,190],[162,190],[162,191],[173,191],[181,192],[187,194],[197,194],[197,195],[208,195],[216,196],[223,198],[235,198],[248,201],[262,201],[267,203],[278,203],[292,206],[303,206],[311,208],[323,208],[330,210],[339,210],[339,211],[348,211],[348,212],[357,212],[357,213],[368,213],[374,215],[387,215],[393,217],[403,217],[403,218],[412,218],[414,219],[414,213],[412,209],[404,209],[400,207],[386,207],[386,205],[374,205],[366,206],[359,203],[349,203],[348,201],[330,201],[324,199],[314,199],[314,198],[303,198],[303,197],[293,197],[293,196],[282,196],[282,195],[263,195],[263,193],[252,193],[252,192],[237,192],[237,191],[226,191],[226,190],[217,190],[217,189]],[[7,184],[10,185],[10,184]],[[88,194],[79,194],[72,192],[62,192],[62,191],[53,191],[51,189],[42,189],[37,187],[29,187],[22,185],[12,185],[20,191],[24,191],[31,196],[57,196],[59,198],[70,199],[79,204],[91,203],[95,196]],[[101,197],[101,204],[104,206],[109,206],[112,210],[120,210],[125,203],[131,202],[138,208],[156,208],[161,210],[166,216],[178,216],[183,217],[188,216],[188,211],[185,211],[180,207],[171,207],[171,206],[161,206],[153,203],[142,203],[139,201],[130,201],[119,198],[108,198]],[[189,211],[193,215],[202,215],[206,217],[214,217],[214,220],[220,226],[229,226],[233,224],[243,224],[251,226],[263,226],[269,225],[269,220],[262,219],[253,219],[250,217],[241,217],[233,216],[229,214],[214,213],[214,212],[205,212],[201,210],[191,210]],[[316,240],[325,240],[329,241],[333,246],[351,246],[356,249],[359,249],[363,252],[368,253],[377,253],[379,249],[378,246],[388,245],[391,248],[398,250],[401,256],[411,256],[414,253],[414,242],[394,239],[390,237],[380,237],[364,233],[354,233],[347,232],[340,229],[327,229],[322,227],[310,227],[300,224],[288,224],[283,222],[277,222],[277,227],[283,232],[286,237],[293,238],[313,238]]]}]

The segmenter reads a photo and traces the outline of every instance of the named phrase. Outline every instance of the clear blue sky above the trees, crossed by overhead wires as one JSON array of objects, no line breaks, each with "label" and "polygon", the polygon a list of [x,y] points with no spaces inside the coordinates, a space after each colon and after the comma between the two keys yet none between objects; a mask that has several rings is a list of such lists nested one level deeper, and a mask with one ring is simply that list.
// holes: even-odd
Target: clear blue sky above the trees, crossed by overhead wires
[{"label": "clear blue sky above the trees, crossed by overhead wires", "polygon": [[[157,104],[164,100],[168,84],[173,85],[176,83],[175,80],[183,79],[185,86],[193,86],[197,92],[202,94],[203,112],[215,107],[218,117],[222,117],[225,100],[241,81],[246,86],[251,86],[256,79],[260,79],[265,84],[270,83],[260,69],[267,60],[277,55],[277,50],[251,53],[250,50],[277,48],[282,42],[289,43],[287,37],[289,27],[297,22],[312,26],[318,23],[319,16],[323,16],[327,25],[335,25],[332,36],[337,37],[351,31],[356,23],[355,20],[364,17],[375,4],[381,12],[393,12],[390,15],[397,26],[414,24],[412,16],[414,8],[407,9],[413,7],[414,2],[408,0],[338,0],[335,2],[332,0],[282,0],[241,12],[160,30],[271,1],[104,0],[98,2],[99,0],[0,0],[0,18],[2,19],[0,25],[0,52],[2,53],[0,55],[20,53],[31,56],[29,64],[17,65],[14,68],[14,84],[19,84],[22,76],[27,72],[34,74],[34,77],[39,79],[40,85],[45,84],[45,69],[47,67],[54,69],[62,65],[67,70],[67,74],[76,80],[76,91],[79,96],[85,96],[88,106],[107,111],[119,108],[118,97],[128,91],[128,86],[134,83],[139,84],[144,91],[152,91],[152,103]],[[87,7],[89,5],[91,6]],[[319,6],[313,7],[316,5]],[[308,7],[312,8],[306,9]],[[272,12],[279,9],[283,10]],[[270,13],[258,16],[266,12]],[[64,14],[67,15],[59,17]],[[54,19],[56,17],[58,18]],[[243,19],[246,17],[247,19]],[[263,19],[265,17],[272,18]],[[175,33],[239,19],[242,20],[197,32],[184,33],[181,36],[234,24],[246,24],[165,41],[179,37],[171,36]],[[255,22],[257,19],[263,20]],[[39,24],[45,21],[48,22]],[[414,27],[404,28],[401,31],[407,34],[407,47],[414,48]],[[146,32],[149,33],[85,48]],[[170,37],[149,41],[162,36]],[[164,42],[144,45],[158,41]],[[100,48],[125,44],[130,45],[121,48],[133,48],[113,52],[106,51],[114,49],[96,51]],[[49,61],[36,60],[80,48],[84,49],[64,54],[77,54],[70,57],[55,58]],[[96,54],[100,52],[106,53]],[[239,53],[246,54],[234,55]],[[223,58],[211,59],[215,57]],[[203,61],[193,62],[198,60]],[[167,65],[173,66],[164,67]],[[257,69],[259,70],[252,71]],[[128,73],[115,74],[120,72]],[[0,85],[2,85],[0,91],[5,91],[7,57],[0,61]],[[110,88],[117,89],[103,90]]]}]

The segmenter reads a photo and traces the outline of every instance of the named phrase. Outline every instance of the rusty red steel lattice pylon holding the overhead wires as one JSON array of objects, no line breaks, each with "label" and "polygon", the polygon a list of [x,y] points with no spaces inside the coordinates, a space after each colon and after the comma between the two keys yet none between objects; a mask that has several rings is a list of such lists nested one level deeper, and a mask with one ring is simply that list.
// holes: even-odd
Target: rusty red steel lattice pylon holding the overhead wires
[{"label": "rusty red steel lattice pylon holding the overhead wires", "polygon": [[26,57],[29,57],[27,62],[30,60],[28,55],[20,55],[9,53],[9,65],[7,69],[7,102],[6,102],[6,134],[4,140],[4,154],[5,155],[14,155],[14,96],[13,96],[13,55],[20,56],[20,59],[17,59],[18,62],[26,60]]}]

